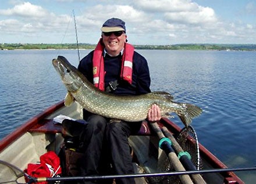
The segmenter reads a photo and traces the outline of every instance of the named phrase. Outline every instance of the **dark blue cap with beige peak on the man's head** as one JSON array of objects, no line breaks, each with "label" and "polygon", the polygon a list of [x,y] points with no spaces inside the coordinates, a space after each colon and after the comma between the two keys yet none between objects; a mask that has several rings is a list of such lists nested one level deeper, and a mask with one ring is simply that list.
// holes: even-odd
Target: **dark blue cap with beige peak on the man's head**
[{"label": "dark blue cap with beige peak on the man's head", "polygon": [[116,19],[116,18],[108,19],[102,25],[101,31],[105,32],[105,33],[113,32],[113,31],[125,31],[126,32],[125,22],[121,19]]}]

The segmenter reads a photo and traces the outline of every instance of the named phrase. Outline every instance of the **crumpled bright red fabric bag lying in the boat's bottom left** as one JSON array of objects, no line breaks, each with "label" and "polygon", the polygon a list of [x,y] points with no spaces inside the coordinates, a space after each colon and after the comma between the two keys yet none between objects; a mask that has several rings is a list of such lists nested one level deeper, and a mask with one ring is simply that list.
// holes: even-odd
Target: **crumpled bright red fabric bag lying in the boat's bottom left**
[{"label": "crumpled bright red fabric bag lying in the boat's bottom left", "polygon": [[[62,172],[59,157],[54,151],[48,151],[40,157],[40,163],[27,164],[25,172],[35,178],[58,176]],[[25,179],[28,182],[27,178]],[[47,182],[38,183],[47,184]]]}]

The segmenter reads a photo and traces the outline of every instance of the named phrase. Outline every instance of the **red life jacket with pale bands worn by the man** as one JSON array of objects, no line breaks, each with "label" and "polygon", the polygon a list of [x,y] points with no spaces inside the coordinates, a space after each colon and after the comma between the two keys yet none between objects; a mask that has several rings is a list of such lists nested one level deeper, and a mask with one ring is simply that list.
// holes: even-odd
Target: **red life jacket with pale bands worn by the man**
[{"label": "red life jacket with pale bands worn by the man", "polygon": [[[101,38],[102,39],[102,38]],[[94,50],[93,54],[93,83],[96,88],[101,91],[105,90],[105,71],[104,71],[104,56],[102,55],[104,50],[104,45],[101,44],[101,39]],[[133,73],[133,53],[134,47],[130,44],[125,43],[125,48],[123,49],[122,56],[122,66],[120,78],[126,80],[131,84],[132,73]]]}]

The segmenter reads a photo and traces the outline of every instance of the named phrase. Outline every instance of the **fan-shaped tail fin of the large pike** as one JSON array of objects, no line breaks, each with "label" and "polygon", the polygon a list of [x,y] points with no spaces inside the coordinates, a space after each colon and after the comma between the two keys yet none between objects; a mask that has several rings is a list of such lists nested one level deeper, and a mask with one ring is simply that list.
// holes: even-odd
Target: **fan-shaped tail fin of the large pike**
[{"label": "fan-shaped tail fin of the large pike", "polygon": [[202,109],[189,103],[181,104],[183,107],[185,107],[185,109],[183,113],[179,113],[178,116],[180,117],[180,120],[182,120],[183,124],[188,127],[191,124],[193,118],[200,116]]}]

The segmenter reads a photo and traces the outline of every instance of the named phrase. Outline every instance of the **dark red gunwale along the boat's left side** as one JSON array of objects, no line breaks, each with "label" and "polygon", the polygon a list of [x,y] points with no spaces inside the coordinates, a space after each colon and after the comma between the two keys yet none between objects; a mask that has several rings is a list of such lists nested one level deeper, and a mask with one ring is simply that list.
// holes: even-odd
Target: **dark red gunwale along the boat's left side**
[{"label": "dark red gunwale along the boat's left side", "polygon": [[15,129],[15,131],[11,132],[9,135],[5,136],[2,140],[0,140],[0,152],[5,149],[6,146],[10,145],[13,141],[18,139],[20,136],[25,134],[31,127],[33,127],[38,122],[42,121],[45,117],[52,114],[54,111],[60,109],[64,106],[64,101],[54,104],[48,109],[42,111],[42,113],[37,116],[31,118],[29,121],[22,124],[19,128]]}]

